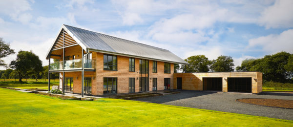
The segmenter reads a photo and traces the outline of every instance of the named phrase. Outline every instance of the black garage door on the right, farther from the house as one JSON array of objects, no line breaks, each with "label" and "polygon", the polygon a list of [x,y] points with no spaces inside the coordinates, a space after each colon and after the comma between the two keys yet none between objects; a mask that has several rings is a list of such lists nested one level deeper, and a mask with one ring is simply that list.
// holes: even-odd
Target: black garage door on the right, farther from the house
[{"label": "black garage door on the right, farther from the house", "polygon": [[251,78],[228,78],[228,92],[251,93]]}]

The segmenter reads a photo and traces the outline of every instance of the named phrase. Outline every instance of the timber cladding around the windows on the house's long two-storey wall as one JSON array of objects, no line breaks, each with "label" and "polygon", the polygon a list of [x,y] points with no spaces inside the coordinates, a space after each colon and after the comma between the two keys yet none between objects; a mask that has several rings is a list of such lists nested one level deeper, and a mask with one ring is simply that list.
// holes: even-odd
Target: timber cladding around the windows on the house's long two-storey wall
[{"label": "timber cladding around the windows on the house's long two-storey wall", "polygon": [[[129,92],[129,78],[135,78],[135,92],[139,92],[139,60],[135,58],[135,71],[129,72],[129,57],[117,56],[117,71],[104,70],[104,54],[93,52],[92,59],[96,59],[96,94],[103,94],[104,77],[117,78],[117,92],[128,93]],[[157,73],[152,73],[152,61],[149,60],[149,79],[157,78],[158,90],[164,89],[164,78],[171,78],[171,86],[173,86],[173,72],[174,64],[171,63],[171,73],[164,74],[164,62],[157,63]],[[152,80],[149,80],[149,91],[152,90]]]}]

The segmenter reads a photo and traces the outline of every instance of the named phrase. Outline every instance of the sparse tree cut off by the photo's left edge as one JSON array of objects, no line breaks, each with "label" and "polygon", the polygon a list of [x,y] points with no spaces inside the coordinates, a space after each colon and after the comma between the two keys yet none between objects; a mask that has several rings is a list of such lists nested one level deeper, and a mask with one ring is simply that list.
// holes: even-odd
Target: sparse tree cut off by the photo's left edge
[{"label": "sparse tree cut off by the photo's left edge", "polygon": [[0,38],[0,66],[6,65],[2,58],[14,54],[14,49],[10,49],[10,45],[5,43],[2,38]]}]

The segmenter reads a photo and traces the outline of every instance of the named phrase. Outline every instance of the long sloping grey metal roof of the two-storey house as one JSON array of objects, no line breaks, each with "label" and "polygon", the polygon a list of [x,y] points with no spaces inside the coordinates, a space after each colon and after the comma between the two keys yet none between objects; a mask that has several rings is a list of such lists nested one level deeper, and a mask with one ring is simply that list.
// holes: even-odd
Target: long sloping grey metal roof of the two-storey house
[{"label": "long sloping grey metal roof of the two-storey house", "polygon": [[[108,54],[119,54],[158,60],[170,63],[189,64],[180,57],[166,49],[146,45],[139,42],[128,41],[125,39],[69,26],[63,24],[63,29],[72,36],[83,48],[91,51],[106,52]],[[86,50],[86,49],[85,49]]]}]

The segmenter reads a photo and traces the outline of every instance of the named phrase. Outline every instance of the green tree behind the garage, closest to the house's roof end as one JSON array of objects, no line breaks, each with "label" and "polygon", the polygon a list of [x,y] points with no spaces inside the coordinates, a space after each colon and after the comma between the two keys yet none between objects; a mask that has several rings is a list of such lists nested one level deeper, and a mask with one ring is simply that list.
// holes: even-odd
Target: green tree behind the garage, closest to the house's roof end
[{"label": "green tree behind the garage, closest to the house's roof end", "polygon": [[[186,66],[187,72],[208,72],[211,61],[205,55],[191,56],[185,59],[190,65]],[[185,69],[185,66],[181,66],[181,70]]]}]

